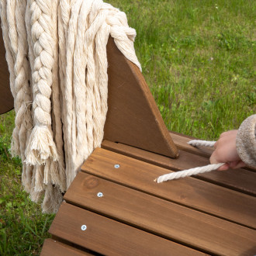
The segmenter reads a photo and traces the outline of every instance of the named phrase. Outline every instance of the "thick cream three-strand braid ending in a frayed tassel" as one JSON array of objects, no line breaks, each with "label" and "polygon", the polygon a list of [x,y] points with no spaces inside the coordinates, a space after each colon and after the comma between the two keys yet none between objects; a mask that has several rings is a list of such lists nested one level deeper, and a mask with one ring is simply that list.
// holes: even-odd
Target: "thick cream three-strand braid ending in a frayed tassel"
[{"label": "thick cream three-strand braid ending in a frayed tassel", "polygon": [[31,35],[35,56],[33,71],[33,113],[35,126],[26,148],[27,164],[45,164],[48,158],[57,161],[57,148],[51,130],[51,86],[54,66],[53,2],[32,0],[30,5]]}]

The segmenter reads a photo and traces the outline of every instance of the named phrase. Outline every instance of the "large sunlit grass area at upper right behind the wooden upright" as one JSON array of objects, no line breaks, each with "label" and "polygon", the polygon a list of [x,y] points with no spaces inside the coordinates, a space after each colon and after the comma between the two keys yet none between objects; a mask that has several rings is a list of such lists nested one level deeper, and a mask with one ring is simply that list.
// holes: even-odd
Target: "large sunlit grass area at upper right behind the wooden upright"
[{"label": "large sunlit grass area at upper right behind the wooden upright", "polygon": [[255,111],[254,2],[111,2],[137,29],[137,56],[169,130],[216,139]]}]

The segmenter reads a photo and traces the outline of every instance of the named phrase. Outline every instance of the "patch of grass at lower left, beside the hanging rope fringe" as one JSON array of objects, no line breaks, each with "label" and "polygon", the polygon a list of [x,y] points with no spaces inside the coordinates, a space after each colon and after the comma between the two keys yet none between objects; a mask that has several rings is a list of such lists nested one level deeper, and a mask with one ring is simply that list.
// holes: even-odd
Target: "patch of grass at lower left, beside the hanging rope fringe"
[{"label": "patch of grass at lower left, beside the hanging rope fringe", "polygon": [[21,161],[9,154],[14,112],[0,116],[0,255],[39,254],[54,214],[43,215],[21,185]]}]

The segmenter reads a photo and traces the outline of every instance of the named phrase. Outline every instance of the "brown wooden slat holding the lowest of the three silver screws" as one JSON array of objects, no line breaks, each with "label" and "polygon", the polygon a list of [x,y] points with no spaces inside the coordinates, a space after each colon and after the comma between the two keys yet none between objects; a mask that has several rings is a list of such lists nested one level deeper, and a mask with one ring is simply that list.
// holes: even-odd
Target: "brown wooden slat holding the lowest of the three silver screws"
[{"label": "brown wooden slat holding the lowest of the three silver screws", "polygon": [[[86,230],[81,226],[86,225]],[[63,202],[50,234],[105,255],[198,255],[198,251],[175,244],[105,216]]]}]

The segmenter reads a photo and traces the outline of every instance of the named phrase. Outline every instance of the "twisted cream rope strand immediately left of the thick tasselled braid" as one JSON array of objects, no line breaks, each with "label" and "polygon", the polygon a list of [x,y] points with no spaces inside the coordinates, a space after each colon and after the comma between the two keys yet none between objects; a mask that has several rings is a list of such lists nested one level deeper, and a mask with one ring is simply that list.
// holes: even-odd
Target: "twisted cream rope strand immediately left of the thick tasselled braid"
[{"label": "twisted cream rope strand immediately left of the thick tasselled braid", "polygon": [[25,163],[25,150],[33,127],[31,115],[32,92],[29,87],[29,77],[31,75],[29,61],[26,56],[29,54],[29,47],[26,36],[26,24],[24,16],[26,14],[26,0],[16,1],[16,30],[18,35],[18,48],[16,64],[14,66],[16,80],[16,129],[19,130],[19,149],[22,159],[22,184],[26,191],[29,191],[31,183],[31,167]]}]

